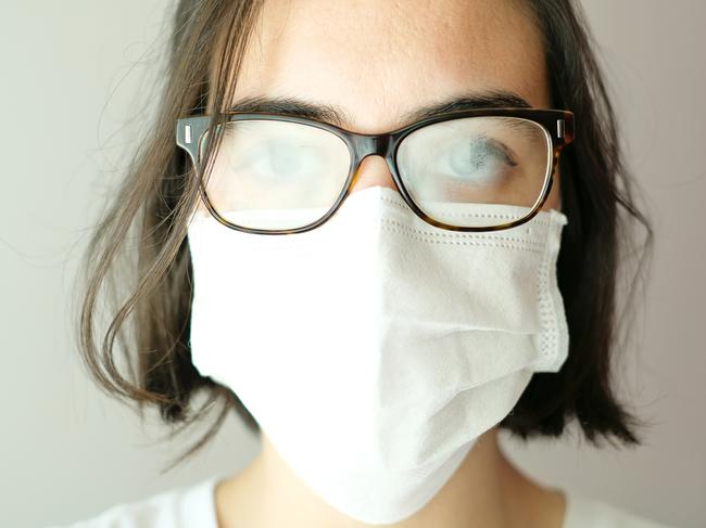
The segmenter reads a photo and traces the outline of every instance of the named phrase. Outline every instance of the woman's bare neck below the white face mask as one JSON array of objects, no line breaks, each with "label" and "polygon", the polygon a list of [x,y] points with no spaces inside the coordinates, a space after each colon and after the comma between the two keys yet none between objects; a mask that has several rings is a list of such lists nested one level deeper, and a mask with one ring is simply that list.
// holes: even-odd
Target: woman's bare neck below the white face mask
[{"label": "woman's bare neck below the white face mask", "polygon": [[[240,474],[216,488],[220,528],[326,526],[365,528],[324,502],[279,455],[266,435]],[[454,475],[418,512],[388,528],[560,528],[564,499],[537,486],[504,456],[493,427],[478,438]]]}]

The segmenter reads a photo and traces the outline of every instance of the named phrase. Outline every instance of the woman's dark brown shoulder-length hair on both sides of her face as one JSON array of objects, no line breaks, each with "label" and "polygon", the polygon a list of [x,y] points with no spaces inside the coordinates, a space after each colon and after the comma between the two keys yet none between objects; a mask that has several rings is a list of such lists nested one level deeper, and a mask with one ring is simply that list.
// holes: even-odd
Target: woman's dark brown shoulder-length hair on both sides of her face
[{"label": "woman's dark brown shoulder-length hair on both sides of her face", "polygon": [[[563,232],[558,280],[570,349],[558,373],[534,374],[500,426],[521,438],[559,436],[567,422],[578,417],[594,443],[598,437],[638,443],[640,423],[617,401],[610,383],[617,346],[616,278],[621,247],[633,240],[633,224],[647,234],[640,266],[631,275],[633,282],[642,276],[652,230],[634,205],[616,117],[580,7],[568,0],[525,5],[543,37],[553,107],[570,110],[576,117],[576,139],[559,162],[562,209],[569,223]],[[253,432],[259,428],[236,394],[201,376],[191,363],[186,228],[199,194],[186,153],[175,142],[175,120],[227,107],[260,9],[261,0],[178,3],[156,123],[96,230],[86,259],[79,349],[99,386],[137,402],[140,413],[146,404],[156,404],[164,422],[174,426],[172,435],[202,422],[220,403],[214,423],[169,468],[204,446],[231,409]],[[134,231],[136,247],[130,245]],[[133,254],[137,261],[122,259]],[[134,273],[122,280],[118,273],[125,270]],[[102,329],[101,299],[108,294],[112,302]],[[197,407],[201,392],[206,398]]]}]

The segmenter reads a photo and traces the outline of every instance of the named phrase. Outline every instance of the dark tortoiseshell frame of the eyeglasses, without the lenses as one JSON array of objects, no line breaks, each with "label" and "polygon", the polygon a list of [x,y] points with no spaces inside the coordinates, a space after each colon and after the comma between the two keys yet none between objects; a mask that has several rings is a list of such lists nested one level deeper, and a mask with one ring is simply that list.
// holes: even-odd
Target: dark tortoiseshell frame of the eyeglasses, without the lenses
[{"label": "dark tortoiseshell frame of the eyeglasses, without the lenses", "polygon": [[[417,205],[414,203],[414,201],[407,193],[407,190],[404,188],[404,184],[402,183],[402,179],[400,178],[400,175],[398,172],[396,152],[398,152],[398,147],[400,146],[400,143],[404,138],[406,138],[415,130],[432,125],[434,123],[459,119],[463,117],[475,117],[475,116],[520,117],[541,125],[544,128],[544,131],[546,132],[549,138],[551,138],[552,160],[551,164],[547,164],[549,165],[547,173],[544,178],[544,185],[542,192],[538,201],[534,203],[532,209],[524,218],[514,220],[508,223],[504,223],[502,226],[490,226],[490,227],[449,226],[433,218],[430,218],[421,209],[419,209],[419,207],[417,207]],[[301,228],[295,228],[295,229],[263,230],[263,229],[252,229],[252,228],[244,228],[242,226],[236,226],[227,221],[218,214],[218,211],[214,209],[213,205],[211,204],[206,195],[203,181],[202,180],[200,181],[199,189],[203,202],[206,205],[209,211],[216,218],[216,220],[218,220],[220,223],[223,223],[228,228],[238,231],[243,231],[247,233],[255,233],[255,234],[302,233],[304,231],[310,231],[322,226],[338,210],[338,208],[343,203],[345,197],[350,194],[351,189],[353,188],[353,184],[355,182],[355,173],[357,171],[361,162],[366,156],[369,156],[370,154],[378,154],[384,157],[388,167],[390,169],[390,173],[392,175],[392,179],[394,180],[394,183],[396,184],[400,194],[407,203],[407,205],[412,208],[412,210],[414,210],[417,214],[417,216],[419,216],[427,223],[450,231],[466,231],[466,232],[467,231],[499,231],[503,229],[514,228],[516,226],[520,226],[531,220],[540,211],[542,205],[544,204],[544,202],[546,202],[546,198],[549,197],[550,191],[552,189],[552,181],[554,180],[554,172],[556,170],[556,166],[558,163],[559,153],[562,152],[562,149],[564,149],[564,146],[566,146],[573,140],[573,113],[569,111],[544,110],[544,108],[478,108],[478,110],[459,111],[459,112],[447,113],[441,116],[434,116],[434,117],[421,119],[411,125],[407,125],[405,127],[399,128],[396,130],[387,133],[379,133],[379,134],[356,133],[343,129],[341,127],[338,127],[336,125],[319,121],[316,119],[291,116],[287,114],[268,113],[268,112],[260,112],[260,113],[232,112],[232,113],[222,114],[218,116],[200,115],[200,116],[181,117],[177,119],[176,142],[180,147],[182,147],[188,152],[189,156],[191,157],[191,160],[193,162],[193,167],[197,173],[199,173],[198,170],[199,162],[200,162],[199,152],[200,152],[200,145],[204,132],[209,130],[209,128],[212,126],[217,126],[223,123],[229,123],[229,121],[242,120],[242,119],[274,119],[274,120],[281,120],[281,121],[291,121],[291,123],[299,123],[299,124],[320,128],[324,130],[328,130],[329,132],[338,136],[348,145],[349,151],[351,153],[351,165],[349,168],[349,175],[345,180],[345,184],[343,186],[341,194],[338,196],[336,203],[331,207],[331,209],[326,215],[324,215],[320,219],[318,219],[316,222],[310,223]]]}]

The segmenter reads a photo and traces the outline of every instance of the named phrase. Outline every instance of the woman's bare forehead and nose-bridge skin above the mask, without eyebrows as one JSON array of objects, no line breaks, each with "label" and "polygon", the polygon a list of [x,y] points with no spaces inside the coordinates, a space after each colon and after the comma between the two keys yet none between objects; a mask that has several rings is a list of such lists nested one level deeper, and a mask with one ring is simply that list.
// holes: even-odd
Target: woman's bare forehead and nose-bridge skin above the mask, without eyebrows
[{"label": "woman's bare forehead and nose-bridge skin above the mask, without eyebrows", "polygon": [[[509,92],[550,107],[540,34],[515,0],[266,0],[232,101],[292,98],[336,107],[336,123],[379,133],[420,107]],[[327,119],[324,119],[327,120]],[[353,192],[394,189],[383,158]],[[558,208],[558,173],[544,209]]]}]

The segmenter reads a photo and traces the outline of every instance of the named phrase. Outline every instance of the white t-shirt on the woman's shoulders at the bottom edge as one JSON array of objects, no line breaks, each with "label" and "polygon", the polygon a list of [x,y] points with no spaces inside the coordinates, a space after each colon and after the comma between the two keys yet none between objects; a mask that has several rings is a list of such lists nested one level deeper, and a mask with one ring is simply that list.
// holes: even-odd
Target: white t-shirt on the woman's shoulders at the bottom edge
[{"label": "white t-shirt on the woman's shoulders at the bottom edge", "polygon": [[[117,504],[64,528],[218,528],[215,487],[220,478],[213,476],[143,501]],[[563,528],[670,528],[598,500],[566,490],[564,493],[567,504]]]}]

